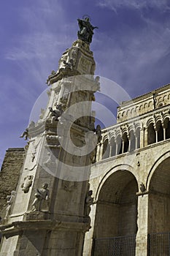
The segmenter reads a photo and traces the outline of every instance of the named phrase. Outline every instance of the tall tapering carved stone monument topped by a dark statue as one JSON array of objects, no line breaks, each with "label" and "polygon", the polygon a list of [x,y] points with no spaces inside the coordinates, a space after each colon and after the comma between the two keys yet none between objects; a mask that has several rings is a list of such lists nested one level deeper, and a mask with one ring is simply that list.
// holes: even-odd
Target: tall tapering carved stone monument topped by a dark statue
[{"label": "tall tapering carved stone monument topped by a dark statue", "polygon": [[25,162],[10,212],[0,226],[2,256],[80,256],[90,228],[90,163],[97,138],[91,102],[99,89],[88,18],[47,78],[49,100],[31,121]]}]

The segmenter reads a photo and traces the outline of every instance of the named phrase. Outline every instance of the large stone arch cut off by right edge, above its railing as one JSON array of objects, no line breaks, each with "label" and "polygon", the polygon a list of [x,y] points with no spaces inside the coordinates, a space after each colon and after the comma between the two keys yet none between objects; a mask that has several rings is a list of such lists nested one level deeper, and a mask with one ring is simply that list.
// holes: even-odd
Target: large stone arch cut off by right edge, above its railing
[{"label": "large stone arch cut off by right edge, above its railing", "polygon": [[170,231],[170,151],[152,167],[147,181],[149,191],[148,232]]}]

